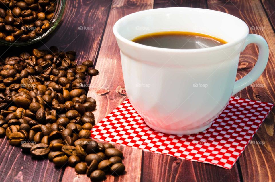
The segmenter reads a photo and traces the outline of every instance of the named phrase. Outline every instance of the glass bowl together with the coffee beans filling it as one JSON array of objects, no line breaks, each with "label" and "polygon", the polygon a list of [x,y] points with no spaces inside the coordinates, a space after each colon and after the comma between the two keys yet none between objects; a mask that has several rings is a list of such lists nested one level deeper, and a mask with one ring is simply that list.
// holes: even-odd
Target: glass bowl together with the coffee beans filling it
[{"label": "glass bowl together with the coffee beans filling it", "polygon": [[0,45],[26,46],[48,36],[62,19],[66,0],[1,0]]}]

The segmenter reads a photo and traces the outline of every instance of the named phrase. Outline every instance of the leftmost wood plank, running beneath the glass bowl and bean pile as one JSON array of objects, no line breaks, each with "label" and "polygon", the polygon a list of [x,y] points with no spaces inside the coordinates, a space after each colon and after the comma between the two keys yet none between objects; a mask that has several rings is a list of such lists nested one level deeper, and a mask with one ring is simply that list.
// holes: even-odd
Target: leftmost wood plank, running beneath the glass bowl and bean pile
[{"label": "leftmost wood plank, running beneath the glass bowl and bean pile", "polygon": [[[53,35],[28,47],[0,48],[0,53],[8,49],[7,53],[14,54],[38,47],[48,49],[55,45],[60,50],[75,50],[78,53],[78,64],[85,60],[95,61],[110,8],[111,0],[69,0],[62,24]],[[93,30],[80,30],[79,26],[93,27]],[[56,169],[48,159],[32,160],[30,155],[22,154],[20,148],[9,146],[6,139],[1,139],[0,142],[0,181],[61,181],[63,176],[71,181],[72,176],[67,172],[70,171],[69,167],[66,170]],[[88,177],[85,179],[89,180]]]}]

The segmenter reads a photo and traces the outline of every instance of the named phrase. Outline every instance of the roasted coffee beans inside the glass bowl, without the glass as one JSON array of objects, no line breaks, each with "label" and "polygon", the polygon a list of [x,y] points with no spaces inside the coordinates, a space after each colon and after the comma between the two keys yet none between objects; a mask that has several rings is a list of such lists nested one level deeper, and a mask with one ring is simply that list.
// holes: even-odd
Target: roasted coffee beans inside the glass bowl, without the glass
[{"label": "roasted coffee beans inside the glass bowl, without the glass", "polygon": [[50,29],[54,0],[1,0],[0,39],[28,41]]}]

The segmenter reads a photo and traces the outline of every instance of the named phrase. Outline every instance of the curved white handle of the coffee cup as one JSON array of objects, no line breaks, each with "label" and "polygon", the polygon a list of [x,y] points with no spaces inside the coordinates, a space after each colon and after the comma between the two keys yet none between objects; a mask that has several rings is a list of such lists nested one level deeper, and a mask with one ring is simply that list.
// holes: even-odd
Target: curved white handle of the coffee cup
[{"label": "curved white handle of the coffee cup", "polygon": [[255,82],[266,68],[269,56],[266,40],[260,35],[249,34],[246,37],[245,43],[241,51],[243,51],[245,47],[250,43],[256,43],[259,48],[259,56],[257,62],[254,68],[246,76],[235,82],[232,95],[235,95],[239,91],[243,90],[244,88]]}]

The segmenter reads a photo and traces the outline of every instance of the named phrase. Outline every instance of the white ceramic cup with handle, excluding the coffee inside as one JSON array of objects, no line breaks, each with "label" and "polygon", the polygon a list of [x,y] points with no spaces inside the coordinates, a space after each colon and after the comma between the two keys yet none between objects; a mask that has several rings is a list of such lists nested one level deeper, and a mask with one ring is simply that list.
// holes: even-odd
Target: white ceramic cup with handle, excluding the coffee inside
[{"label": "white ceramic cup with handle, excluding the coffee inside", "polygon": [[[212,35],[227,44],[202,49],[167,49],[131,40],[147,33],[187,31]],[[207,129],[232,95],[260,77],[268,61],[263,37],[248,34],[241,19],[208,9],[160,8],[119,19],[114,27],[128,98],[154,130],[192,134]],[[235,82],[240,52],[259,47],[256,65]]]}]

